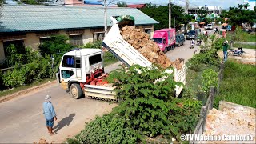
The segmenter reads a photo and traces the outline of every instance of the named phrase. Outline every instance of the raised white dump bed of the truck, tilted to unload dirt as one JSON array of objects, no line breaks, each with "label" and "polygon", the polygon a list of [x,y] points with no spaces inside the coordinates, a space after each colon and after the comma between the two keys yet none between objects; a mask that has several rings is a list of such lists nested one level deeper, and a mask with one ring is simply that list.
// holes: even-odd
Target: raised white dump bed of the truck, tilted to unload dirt
[{"label": "raised white dump bed of the truck, tilted to unload dirt", "polygon": [[[111,17],[113,26],[111,27],[108,34],[102,42],[107,50],[109,50],[118,60],[125,63],[127,66],[132,66],[134,64],[151,67],[152,63],[145,58],[138,50],[131,46],[120,34],[120,28],[118,26],[118,21],[116,18]],[[184,85],[186,83],[186,66],[184,61],[179,63],[180,69],[178,70],[174,67],[174,80],[176,82],[182,82]],[[178,67],[178,66],[177,66]],[[181,93],[183,86],[176,87],[176,97]]]}]

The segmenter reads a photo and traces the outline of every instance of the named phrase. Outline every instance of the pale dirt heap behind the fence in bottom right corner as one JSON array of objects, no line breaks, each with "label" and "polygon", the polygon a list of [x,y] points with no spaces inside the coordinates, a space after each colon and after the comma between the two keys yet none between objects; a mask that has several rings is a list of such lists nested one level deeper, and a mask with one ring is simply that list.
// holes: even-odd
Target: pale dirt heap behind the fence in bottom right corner
[{"label": "pale dirt heap behind the fence in bottom right corner", "polygon": [[[224,109],[223,111],[212,109],[206,118],[206,131],[204,135],[250,135],[245,141],[207,141],[200,143],[255,143],[255,112],[244,109],[242,106],[234,109]],[[228,138],[228,137],[226,137]],[[248,140],[249,139],[249,140]]]}]

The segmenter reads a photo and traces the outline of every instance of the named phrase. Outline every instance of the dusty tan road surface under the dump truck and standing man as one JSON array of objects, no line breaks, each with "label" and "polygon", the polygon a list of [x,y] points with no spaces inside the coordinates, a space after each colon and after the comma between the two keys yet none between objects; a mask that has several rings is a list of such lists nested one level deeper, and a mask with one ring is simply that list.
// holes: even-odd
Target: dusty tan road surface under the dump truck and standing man
[{"label": "dusty tan road surface under the dump truck and standing man", "polygon": [[[168,58],[192,58],[195,50],[189,49],[189,41],[184,46],[176,47],[166,53]],[[118,68],[120,62],[106,66],[106,72]],[[46,94],[52,96],[52,102],[58,121],[54,122],[54,136],[49,136],[46,130],[45,118],[42,114],[42,102]],[[76,100],[66,94],[57,84],[46,86],[42,90],[34,90],[18,98],[0,103],[0,142],[1,143],[31,143],[40,138],[47,142],[59,143],[66,138],[78,134],[90,119],[96,115],[109,113],[117,104],[109,104],[98,100],[82,98]]]}]

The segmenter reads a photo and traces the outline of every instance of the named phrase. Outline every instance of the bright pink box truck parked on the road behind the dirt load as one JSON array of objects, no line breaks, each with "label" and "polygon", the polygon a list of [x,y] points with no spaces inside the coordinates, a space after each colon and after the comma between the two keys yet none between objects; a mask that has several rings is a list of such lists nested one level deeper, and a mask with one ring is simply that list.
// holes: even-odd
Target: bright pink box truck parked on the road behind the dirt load
[{"label": "bright pink box truck parked on the road behind the dirt load", "polygon": [[168,50],[174,50],[175,46],[175,29],[162,29],[154,31],[153,40],[156,42],[164,53]]}]

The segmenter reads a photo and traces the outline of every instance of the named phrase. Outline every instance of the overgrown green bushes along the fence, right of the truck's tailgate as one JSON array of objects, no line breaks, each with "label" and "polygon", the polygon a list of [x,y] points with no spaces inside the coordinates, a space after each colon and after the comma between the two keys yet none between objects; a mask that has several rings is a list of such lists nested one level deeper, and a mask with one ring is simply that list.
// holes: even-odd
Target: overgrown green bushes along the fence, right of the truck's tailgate
[{"label": "overgrown green bushes along the fence, right of the truck's tailgate", "polygon": [[[218,71],[221,58],[218,50],[222,49],[223,38],[204,37],[205,44],[201,46],[199,54],[195,54],[186,62],[186,88],[182,97],[190,96],[204,104],[209,95],[210,86],[218,86]],[[210,42],[210,43],[209,43]]]}]

